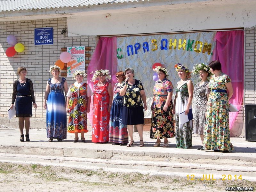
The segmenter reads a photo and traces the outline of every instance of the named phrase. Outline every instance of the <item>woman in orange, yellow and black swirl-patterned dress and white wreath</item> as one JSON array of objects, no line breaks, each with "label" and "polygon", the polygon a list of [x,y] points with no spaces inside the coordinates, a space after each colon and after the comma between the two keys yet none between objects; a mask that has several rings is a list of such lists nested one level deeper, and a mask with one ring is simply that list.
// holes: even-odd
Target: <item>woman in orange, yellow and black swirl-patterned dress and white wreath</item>
[{"label": "woman in orange, yellow and black swirl-patterned dress and white wreath", "polygon": [[83,82],[85,71],[76,70],[73,76],[76,82],[68,89],[66,104],[69,113],[68,132],[75,133],[74,143],[78,142],[78,133],[81,133],[81,141],[85,143],[84,133],[88,132],[87,113],[90,112],[92,94],[90,87]]}]

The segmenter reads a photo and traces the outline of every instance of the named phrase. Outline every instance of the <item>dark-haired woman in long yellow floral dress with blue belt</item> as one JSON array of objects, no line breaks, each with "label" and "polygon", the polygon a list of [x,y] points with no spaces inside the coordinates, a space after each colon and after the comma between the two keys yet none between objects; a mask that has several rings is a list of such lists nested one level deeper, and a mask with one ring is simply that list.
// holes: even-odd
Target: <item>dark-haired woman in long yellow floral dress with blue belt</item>
[{"label": "dark-haired woman in long yellow floral dress with blue belt", "polygon": [[228,101],[233,95],[233,88],[229,76],[221,71],[219,61],[212,61],[209,67],[213,75],[208,84],[211,92],[207,103],[204,144],[201,150],[230,152],[233,145],[229,135]]}]

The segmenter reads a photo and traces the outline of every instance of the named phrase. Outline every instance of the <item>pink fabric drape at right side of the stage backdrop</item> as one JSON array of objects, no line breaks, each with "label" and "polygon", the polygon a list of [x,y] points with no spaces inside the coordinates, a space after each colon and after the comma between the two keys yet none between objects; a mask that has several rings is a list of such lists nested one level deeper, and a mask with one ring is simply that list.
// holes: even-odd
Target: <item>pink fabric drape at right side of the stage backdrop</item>
[{"label": "pink fabric drape at right side of the stage backdrop", "polygon": [[[231,78],[234,94],[229,102],[240,110],[244,94],[244,31],[218,31],[215,39],[213,60],[220,61],[222,71]],[[230,130],[237,114],[229,113]]]}]

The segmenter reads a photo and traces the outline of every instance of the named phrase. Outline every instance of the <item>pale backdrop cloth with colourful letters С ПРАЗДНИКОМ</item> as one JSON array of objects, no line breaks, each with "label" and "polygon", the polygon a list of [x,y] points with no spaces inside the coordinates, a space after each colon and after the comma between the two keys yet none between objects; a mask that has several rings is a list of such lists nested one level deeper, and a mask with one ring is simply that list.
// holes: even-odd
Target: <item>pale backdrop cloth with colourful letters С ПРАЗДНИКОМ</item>
[{"label": "pale backdrop cloth with colourful letters \u0421 \u041f\u0420\u0410\u0417\u0414\u041d\u0418\u041a\u041e\u041c", "polygon": [[[196,63],[209,64],[215,48],[216,32],[180,33],[169,35],[126,36],[117,38],[117,71],[131,67],[135,79],[141,80],[147,97],[145,118],[151,118],[154,63],[167,68],[168,79],[174,87],[180,80],[174,68],[176,63],[186,65],[190,71]],[[191,80],[197,79],[192,75]],[[174,90],[175,91],[175,90]]]}]

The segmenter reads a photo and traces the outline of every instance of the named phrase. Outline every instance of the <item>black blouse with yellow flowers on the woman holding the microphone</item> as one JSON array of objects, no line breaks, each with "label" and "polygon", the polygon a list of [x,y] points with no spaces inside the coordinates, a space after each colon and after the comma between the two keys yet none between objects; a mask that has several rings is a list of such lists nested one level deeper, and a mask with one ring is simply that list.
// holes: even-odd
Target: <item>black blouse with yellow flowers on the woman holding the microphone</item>
[{"label": "black blouse with yellow flowers on the woman holding the microphone", "polygon": [[[125,82],[123,81],[121,88],[123,88]],[[140,97],[140,91],[144,90],[140,80],[135,79],[135,84],[127,85],[127,89],[124,95],[125,107],[139,107],[142,105],[142,99]]]}]

